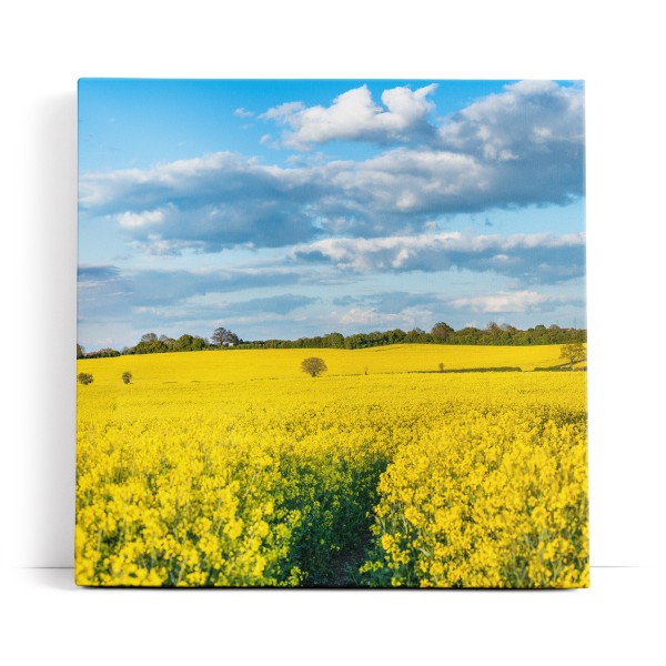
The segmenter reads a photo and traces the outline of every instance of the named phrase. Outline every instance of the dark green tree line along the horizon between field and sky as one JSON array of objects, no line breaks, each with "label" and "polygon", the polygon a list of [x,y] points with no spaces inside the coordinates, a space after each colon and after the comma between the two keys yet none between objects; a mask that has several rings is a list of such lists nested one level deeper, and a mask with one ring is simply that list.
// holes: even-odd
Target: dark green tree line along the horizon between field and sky
[{"label": "dark green tree line along the horizon between field and sky", "polygon": [[97,352],[88,352],[77,344],[77,359],[100,359],[133,354],[159,354],[167,352],[199,352],[206,350],[242,349],[242,350],[276,350],[276,349],[339,349],[361,350],[389,344],[473,344],[527,346],[539,344],[567,344],[586,342],[587,331],[584,329],[561,329],[556,324],[545,326],[538,324],[532,329],[521,330],[511,324],[490,322],[485,329],[465,326],[455,331],[444,322],[436,323],[430,332],[423,329],[403,331],[373,331],[371,333],[354,333],[343,335],[333,332],[314,337],[297,340],[241,340],[235,333],[220,326],[213,331],[210,340],[199,335],[184,333],[178,339],[157,333],[145,333],[133,346],[121,351],[110,347]]}]

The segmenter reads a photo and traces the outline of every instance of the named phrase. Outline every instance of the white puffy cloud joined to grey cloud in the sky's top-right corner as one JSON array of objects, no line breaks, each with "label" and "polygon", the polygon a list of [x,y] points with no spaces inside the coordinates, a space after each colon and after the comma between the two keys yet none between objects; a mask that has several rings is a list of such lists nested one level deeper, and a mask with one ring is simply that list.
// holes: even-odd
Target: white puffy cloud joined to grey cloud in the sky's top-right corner
[{"label": "white puffy cloud joined to grey cloud in the sky's top-right corner", "polygon": [[432,83],[417,90],[385,90],[377,104],[362,85],[343,92],[329,107],[287,102],[261,118],[282,125],[283,144],[299,150],[335,140],[427,145],[431,154],[455,152],[504,167],[488,181],[493,190],[501,184],[515,192],[512,181],[529,176],[541,181],[541,188],[548,183],[553,188],[554,180],[559,190],[565,184],[559,196],[582,193],[582,85],[521,81],[445,118],[438,128],[428,121],[435,108],[428,95],[435,88]]}]

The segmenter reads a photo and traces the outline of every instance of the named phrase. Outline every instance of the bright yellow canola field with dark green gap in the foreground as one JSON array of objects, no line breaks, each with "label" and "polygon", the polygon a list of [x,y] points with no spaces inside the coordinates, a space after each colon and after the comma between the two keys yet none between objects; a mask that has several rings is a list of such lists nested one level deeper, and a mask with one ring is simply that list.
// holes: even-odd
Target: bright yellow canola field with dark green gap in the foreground
[{"label": "bright yellow canola field with dark green gap in the foreground", "polygon": [[[301,372],[309,355],[324,376]],[[78,385],[77,583],[587,586],[586,373],[436,372],[558,356],[396,345],[79,361],[94,382]]]}]

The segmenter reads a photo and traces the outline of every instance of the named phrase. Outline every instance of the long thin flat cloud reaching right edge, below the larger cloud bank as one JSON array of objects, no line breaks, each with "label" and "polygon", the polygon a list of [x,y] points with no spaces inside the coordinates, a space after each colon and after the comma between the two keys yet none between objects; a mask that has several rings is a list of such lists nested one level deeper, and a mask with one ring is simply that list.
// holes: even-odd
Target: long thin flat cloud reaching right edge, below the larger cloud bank
[{"label": "long thin flat cloud reaching right edge, below the larger cloud bank", "polygon": [[294,260],[332,263],[343,271],[493,271],[534,282],[584,274],[585,234],[464,235],[423,233],[375,239],[325,239],[296,246]]}]

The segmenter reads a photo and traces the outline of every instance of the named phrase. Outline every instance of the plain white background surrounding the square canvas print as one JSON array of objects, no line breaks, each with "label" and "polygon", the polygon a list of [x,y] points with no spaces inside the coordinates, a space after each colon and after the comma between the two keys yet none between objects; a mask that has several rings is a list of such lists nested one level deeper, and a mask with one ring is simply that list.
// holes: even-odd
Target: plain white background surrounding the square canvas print
[{"label": "plain white background surrounding the square canvas print", "polygon": [[[0,17],[0,657],[660,663],[666,59],[656,3],[12,3]],[[592,588],[72,584],[80,77],[585,79]],[[658,606],[657,606],[658,608]]]}]

